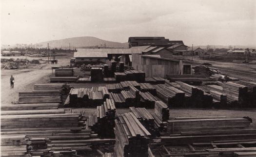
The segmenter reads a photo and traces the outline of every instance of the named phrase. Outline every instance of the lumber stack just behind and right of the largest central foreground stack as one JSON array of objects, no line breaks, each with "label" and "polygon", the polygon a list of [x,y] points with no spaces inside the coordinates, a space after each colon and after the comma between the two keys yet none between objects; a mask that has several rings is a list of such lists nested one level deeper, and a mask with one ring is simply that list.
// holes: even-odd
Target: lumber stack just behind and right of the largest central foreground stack
[{"label": "lumber stack just behind and right of the largest central foreground stack", "polygon": [[145,108],[135,108],[130,107],[130,112],[132,112],[138,121],[150,132],[152,136],[158,134],[158,130],[154,124],[154,117]]}]

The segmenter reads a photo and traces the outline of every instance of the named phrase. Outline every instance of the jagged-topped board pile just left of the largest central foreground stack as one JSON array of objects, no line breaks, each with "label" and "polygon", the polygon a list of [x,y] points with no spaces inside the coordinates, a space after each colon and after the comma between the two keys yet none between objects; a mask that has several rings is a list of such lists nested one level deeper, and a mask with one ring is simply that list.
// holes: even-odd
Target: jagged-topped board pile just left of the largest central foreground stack
[{"label": "jagged-topped board pile just left of the largest central foreground stack", "polygon": [[95,115],[89,115],[86,128],[91,128],[100,138],[114,138],[115,116],[114,101],[106,99],[103,105],[97,106]]}]

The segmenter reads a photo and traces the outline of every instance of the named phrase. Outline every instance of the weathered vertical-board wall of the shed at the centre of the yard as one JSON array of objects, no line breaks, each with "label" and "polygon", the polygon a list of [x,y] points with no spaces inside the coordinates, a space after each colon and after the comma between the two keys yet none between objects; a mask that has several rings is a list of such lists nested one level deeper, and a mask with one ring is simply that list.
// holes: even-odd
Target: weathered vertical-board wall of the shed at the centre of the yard
[{"label": "weathered vertical-board wall of the shed at the centre of the yard", "polygon": [[135,69],[144,71],[146,77],[166,78],[166,75],[183,74],[182,69],[184,63],[182,61],[171,61],[163,60],[160,58],[141,57],[141,55],[139,54],[133,54],[132,57],[132,66]]}]

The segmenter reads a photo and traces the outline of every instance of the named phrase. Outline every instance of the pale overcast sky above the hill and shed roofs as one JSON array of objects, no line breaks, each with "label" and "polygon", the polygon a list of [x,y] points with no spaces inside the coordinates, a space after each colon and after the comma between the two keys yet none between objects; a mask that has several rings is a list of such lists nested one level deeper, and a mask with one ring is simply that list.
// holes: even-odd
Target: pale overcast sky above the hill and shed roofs
[{"label": "pale overcast sky above the hill and shed roofs", "polygon": [[256,45],[256,0],[0,0],[1,43],[79,36],[164,36],[194,45]]}]

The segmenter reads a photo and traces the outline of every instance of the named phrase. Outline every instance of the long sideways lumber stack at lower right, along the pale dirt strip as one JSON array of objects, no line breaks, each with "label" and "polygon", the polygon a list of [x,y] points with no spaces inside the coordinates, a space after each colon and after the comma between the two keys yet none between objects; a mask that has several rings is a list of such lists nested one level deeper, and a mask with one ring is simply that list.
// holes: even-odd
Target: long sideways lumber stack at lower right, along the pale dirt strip
[{"label": "long sideways lumber stack at lower right, along the pale dirt strip", "polygon": [[212,130],[232,130],[249,128],[251,121],[248,118],[201,118],[168,120],[167,132],[180,134],[182,132],[208,132]]}]

